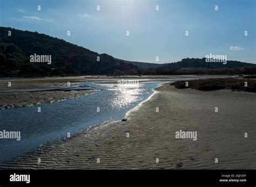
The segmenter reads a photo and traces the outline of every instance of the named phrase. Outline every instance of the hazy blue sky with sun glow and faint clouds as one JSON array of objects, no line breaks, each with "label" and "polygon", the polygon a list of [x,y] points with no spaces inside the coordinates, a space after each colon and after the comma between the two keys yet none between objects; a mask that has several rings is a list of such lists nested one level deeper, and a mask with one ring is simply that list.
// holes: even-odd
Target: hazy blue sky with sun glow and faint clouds
[{"label": "hazy blue sky with sun glow and faint clouds", "polygon": [[0,26],[48,34],[128,61],[169,63],[212,54],[256,63],[255,4],[255,0],[0,0]]}]

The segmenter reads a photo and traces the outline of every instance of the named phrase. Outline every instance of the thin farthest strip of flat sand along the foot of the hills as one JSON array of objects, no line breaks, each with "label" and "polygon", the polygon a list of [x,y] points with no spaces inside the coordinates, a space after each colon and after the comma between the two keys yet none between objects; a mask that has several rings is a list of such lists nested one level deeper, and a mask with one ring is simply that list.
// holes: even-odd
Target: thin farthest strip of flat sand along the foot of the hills
[{"label": "thin farthest strip of flat sand along the foot of the hills", "polygon": [[[24,91],[46,91],[63,88],[68,82],[71,84],[79,82],[109,81],[117,83],[122,79],[139,79],[139,80],[172,80],[175,78],[213,78],[213,77],[230,77],[226,75],[177,75],[177,76],[78,76],[78,77],[43,77],[43,78],[0,78],[1,92],[24,92]],[[8,87],[8,83],[11,87]]]}]

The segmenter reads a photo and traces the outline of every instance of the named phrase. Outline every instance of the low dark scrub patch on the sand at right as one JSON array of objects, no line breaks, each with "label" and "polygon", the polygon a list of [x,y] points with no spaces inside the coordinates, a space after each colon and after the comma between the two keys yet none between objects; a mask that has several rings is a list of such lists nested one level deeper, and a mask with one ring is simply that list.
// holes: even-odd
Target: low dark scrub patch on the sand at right
[{"label": "low dark scrub patch on the sand at right", "polygon": [[[188,82],[188,87],[186,87],[186,82]],[[247,87],[245,82],[247,82]],[[192,88],[203,91],[228,89],[256,92],[256,80],[241,78],[209,78],[206,80],[177,81],[171,85],[174,85],[178,89]]]}]

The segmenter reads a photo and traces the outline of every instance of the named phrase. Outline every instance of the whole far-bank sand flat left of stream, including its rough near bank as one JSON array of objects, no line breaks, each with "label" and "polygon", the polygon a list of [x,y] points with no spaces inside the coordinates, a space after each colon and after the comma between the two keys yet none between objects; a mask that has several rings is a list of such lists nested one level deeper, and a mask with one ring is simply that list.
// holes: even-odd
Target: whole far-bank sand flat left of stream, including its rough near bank
[{"label": "whole far-bank sand flat left of stream, including its rough near bank", "polygon": [[[0,78],[0,110],[14,107],[33,106],[45,103],[59,102],[65,99],[73,99],[99,91],[72,90],[81,82],[104,81],[104,83],[117,84],[118,80],[136,79],[140,82],[152,80],[176,80],[180,77],[206,78],[214,76],[78,76],[78,77],[43,77],[43,78]],[[218,76],[219,77],[219,76]],[[225,76],[224,76],[225,77]],[[10,86],[8,86],[10,83]],[[68,87],[70,83],[70,87]]]}]

